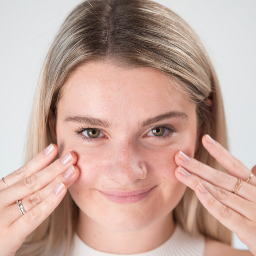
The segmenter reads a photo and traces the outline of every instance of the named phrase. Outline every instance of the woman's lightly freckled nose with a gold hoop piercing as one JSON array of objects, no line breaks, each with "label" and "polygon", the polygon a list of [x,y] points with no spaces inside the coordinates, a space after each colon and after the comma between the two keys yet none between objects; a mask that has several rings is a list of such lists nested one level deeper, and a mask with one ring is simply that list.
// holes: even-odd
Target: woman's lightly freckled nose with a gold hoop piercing
[{"label": "woman's lightly freckled nose with a gold hoop piercing", "polygon": [[130,139],[125,139],[113,151],[112,163],[106,170],[106,177],[123,186],[132,185],[145,176],[146,168],[139,159],[138,147]]}]

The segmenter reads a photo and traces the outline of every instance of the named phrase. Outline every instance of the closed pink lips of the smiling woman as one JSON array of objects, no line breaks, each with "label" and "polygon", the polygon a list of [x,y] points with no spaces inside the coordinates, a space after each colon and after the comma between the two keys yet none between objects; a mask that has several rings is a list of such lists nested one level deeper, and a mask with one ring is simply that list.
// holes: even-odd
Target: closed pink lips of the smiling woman
[{"label": "closed pink lips of the smiling woman", "polygon": [[132,191],[121,191],[121,190],[108,190],[108,191],[101,191],[101,194],[106,197],[108,200],[114,203],[136,203],[140,200],[147,197],[150,192],[155,188],[144,188],[144,189],[136,189]]}]

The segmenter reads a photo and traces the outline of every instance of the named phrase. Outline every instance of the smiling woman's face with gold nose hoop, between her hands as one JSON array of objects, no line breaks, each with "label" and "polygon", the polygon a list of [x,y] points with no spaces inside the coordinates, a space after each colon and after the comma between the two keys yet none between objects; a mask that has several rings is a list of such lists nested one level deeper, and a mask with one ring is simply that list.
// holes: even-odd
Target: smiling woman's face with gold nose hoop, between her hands
[{"label": "smiling woman's face with gold nose hoop, between her hands", "polygon": [[194,155],[196,120],[195,104],[156,69],[79,67],[61,92],[56,134],[59,155],[78,156],[69,192],[80,214],[119,232],[171,216],[186,189],[174,155]]}]

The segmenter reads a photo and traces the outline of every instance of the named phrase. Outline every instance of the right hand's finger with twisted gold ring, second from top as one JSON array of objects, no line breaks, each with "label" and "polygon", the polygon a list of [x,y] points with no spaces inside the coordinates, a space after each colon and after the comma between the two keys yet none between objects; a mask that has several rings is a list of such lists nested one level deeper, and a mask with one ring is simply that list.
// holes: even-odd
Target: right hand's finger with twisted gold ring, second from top
[{"label": "right hand's finger with twisted gold ring, second from top", "polygon": [[[183,160],[182,160],[183,159]],[[184,161],[185,160],[185,161]],[[226,189],[232,192],[236,187],[238,179],[227,173],[215,170],[214,168],[197,161],[195,158],[188,157],[182,151],[175,155],[175,161],[178,166],[184,167],[189,172],[196,174],[202,179],[210,182],[213,185]],[[242,181],[242,185],[237,192],[237,196],[256,202],[256,187]]]}]

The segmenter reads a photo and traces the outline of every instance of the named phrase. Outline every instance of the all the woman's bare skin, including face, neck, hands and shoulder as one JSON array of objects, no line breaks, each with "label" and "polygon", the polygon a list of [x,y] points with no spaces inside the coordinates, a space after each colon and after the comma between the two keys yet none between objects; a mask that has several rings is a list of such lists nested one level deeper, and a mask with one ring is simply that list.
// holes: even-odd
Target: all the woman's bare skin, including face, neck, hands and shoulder
[{"label": "all the woman's bare skin, including face, neck, hands and shoulder", "polygon": [[[141,126],[170,111],[180,115]],[[83,140],[88,133],[77,130],[85,121],[72,121],[78,115],[103,118],[110,126],[89,125],[102,133],[90,142]],[[249,170],[208,135],[203,146],[227,174],[194,159],[200,131],[195,105],[155,69],[120,69],[110,63],[79,67],[61,91],[57,120],[50,113],[49,123],[58,145],[50,144],[0,182],[1,255],[14,256],[68,188],[80,211],[76,232],[87,245],[110,253],[150,251],[172,236],[172,211],[187,187],[250,250],[206,238],[205,256],[256,255],[256,166]],[[168,125],[161,135],[166,139],[155,133],[163,125]],[[60,158],[53,161],[58,150]],[[147,170],[144,179],[140,167]],[[238,178],[242,185],[234,194]],[[133,203],[113,202],[100,192],[141,188],[152,189]],[[16,200],[25,209],[22,216]]]}]

